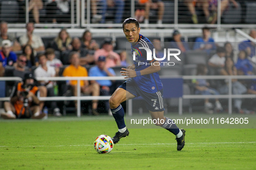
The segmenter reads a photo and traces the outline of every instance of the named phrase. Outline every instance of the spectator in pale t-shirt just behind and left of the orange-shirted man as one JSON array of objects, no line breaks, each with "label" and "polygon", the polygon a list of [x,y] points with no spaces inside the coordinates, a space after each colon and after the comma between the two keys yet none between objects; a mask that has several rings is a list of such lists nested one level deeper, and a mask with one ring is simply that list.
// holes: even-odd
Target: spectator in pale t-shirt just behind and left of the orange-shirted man
[{"label": "spectator in pale t-shirt just behind and left of the orange-shirted man", "polygon": [[62,61],[55,58],[55,51],[53,48],[47,48],[45,50],[45,56],[47,57],[47,65],[55,68],[56,76],[59,76],[59,68],[62,65]]}]

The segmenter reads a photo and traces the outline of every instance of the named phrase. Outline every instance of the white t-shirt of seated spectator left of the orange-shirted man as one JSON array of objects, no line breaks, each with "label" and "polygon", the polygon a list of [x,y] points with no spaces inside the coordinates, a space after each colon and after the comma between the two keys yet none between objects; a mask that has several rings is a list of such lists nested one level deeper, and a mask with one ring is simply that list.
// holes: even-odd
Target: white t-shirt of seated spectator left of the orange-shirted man
[{"label": "white t-shirt of seated spectator left of the orange-shirted man", "polygon": [[[54,77],[56,72],[55,68],[52,66],[47,66],[47,71],[42,68],[41,65],[39,65],[35,71],[35,76],[37,77]],[[46,84],[48,81],[44,81],[42,84]],[[53,87],[53,82],[50,82],[48,85],[46,85],[47,88],[52,88]]]}]

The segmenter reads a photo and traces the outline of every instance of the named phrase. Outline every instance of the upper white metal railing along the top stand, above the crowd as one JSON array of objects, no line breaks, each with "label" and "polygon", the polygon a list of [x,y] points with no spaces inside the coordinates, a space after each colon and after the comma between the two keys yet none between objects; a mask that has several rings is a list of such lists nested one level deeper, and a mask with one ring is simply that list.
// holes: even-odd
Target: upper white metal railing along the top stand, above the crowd
[{"label": "upper white metal railing along the top stand, above the crowd", "polygon": [[[8,0],[4,0],[4,1],[8,1]],[[127,0],[126,0],[127,1]],[[129,4],[129,8],[124,9],[125,10],[129,10],[125,11],[127,15],[127,13],[130,14],[130,16],[127,17],[134,17],[135,15],[135,3],[136,0],[130,0],[130,4]],[[9,22],[9,28],[11,27],[24,27],[25,23],[27,22],[31,22],[33,21],[33,19],[31,20],[29,18],[29,15],[32,15],[31,12],[29,14],[29,0],[25,0],[25,18],[24,18],[24,23],[16,23],[16,22]],[[166,2],[166,1],[164,1]],[[179,0],[174,0],[170,1],[168,3],[173,3],[173,9],[169,9],[174,11],[174,13],[172,14],[172,16],[170,16],[170,18],[173,18],[173,22],[172,23],[164,23],[162,25],[162,28],[201,28],[203,26],[208,26],[208,27],[214,27],[214,28],[255,28],[254,24],[243,24],[243,23],[237,23],[237,24],[225,24],[223,22],[221,22],[221,16],[220,16],[220,2],[221,0],[218,0],[218,7],[217,7],[217,22],[216,24],[206,24],[206,23],[199,23],[199,24],[186,24],[186,23],[182,23],[181,21],[179,21],[179,12],[182,11],[182,9],[179,9],[179,3],[181,3]],[[231,3],[231,2],[230,2]],[[239,3],[239,2],[238,2]],[[184,4],[185,5],[185,4]],[[86,10],[85,10],[85,6],[86,6]],[[99,7],[99,6],[98,6]],[[43,6],[43,8],[45,8],[45,6]],[[228,8],[229,10],[232,9],[232,7],[230,6]],[[227,10],[228,10],[227,9]],[[243,8],[242,8],[243,9]],[[242,10],[241,9],[241,10]],[[245,8],[246,9],[246,8]],[[69,23],[50,23],[50,22],[43,22],[36,24],[36,27],[42,27],[42,28],[49,28],[49,27],[68,27],[68,28],[75,28],[75,27],[86,27],[86,28],[95,28],[95,27],[101,27],[101,28],[109,28],[109,27],[121,27],[121,23],[117,23],[117,24],[113,24],[113,23],[105,23],[105,24],[100,24],[100,23],[92,23],[91,22],[91,0],[70,0],[70,22]],[[42,12],[44,11],[44,12]],[[43,13],[45,13],[46,9],[42,9],[40,10],[40,15],[44,15]],[[86,11],[86,12],[85,12]],[[98,9],[98,11],[100,11],[100,9]],[[188,18],[188,20],[191,20],[191,16],[188,15],[188,8],[185,7],[185,16]],[[16,11],[18,12],[18,11]],[[42,13],[41,13],[42,12]],[[4,15],[6,15],[6,13],[4,13]],[[157,15],[157,14],[156,14]],[[241,14],[242,15],[242,14]],[[247,14],[248,15],[248,14]],[[43,16],[43,17],[47,17],[47,16]],[[157,16],[154,16],[157,18]],[[241,19],[243,17],[241,16]],[[1,18],[2,20],[7,20],[8,18]],[[17,19],[18,20],[18,19]],[[42,19],[41,19],[42,20]],[[7,20],[8,22],[8,20]],[[241,20],[242,22],[242,20]],[[141,23],[142,27],[148,27],[148,28],[156,28],[158,25],[157,24],[149,24],[149,25],[144,25],[143,23]]]}]

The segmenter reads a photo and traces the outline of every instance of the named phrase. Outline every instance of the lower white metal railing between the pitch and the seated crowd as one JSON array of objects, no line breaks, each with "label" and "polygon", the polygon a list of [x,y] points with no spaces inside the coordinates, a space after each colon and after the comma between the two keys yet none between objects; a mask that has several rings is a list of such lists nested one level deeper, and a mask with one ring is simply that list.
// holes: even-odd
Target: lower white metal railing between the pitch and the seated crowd
[{"label": "lower white metal railing between the pitch and the seated crowd", "polygon": [[[162,76],[164,78],[173,78],[172,76]],[[232,114],[232,99],[233,98],[256,98],[256,94],[232,94],[231,81],[232,79],[256,79],[256,76],[181,76],[185,80],[191,79],[228,79],[229,93],[225,95],[183,95],[179,100],[179,114],[182,114],[182,99],[205,99],[205,98],[227,98],[228,99],[228,113]],[[21,81],[19,77],[0,77],[0,81]],[[82,80],[124,80],[123,76],[113,77],[42,77],[37,80],[44,81],[70,81],[77,80],[77,94],[78,96],[57,96],[57,97],[44,97],[39,98],[42,101],[77,101],[78,109],[77,116],[81,116],[81,101],[91,100],[109,100],[110,96],[81,96],[80,81]],[[10,98],[0,98],[0,101],[9,101]],[[132,101],[128,101],[128,115],[132,116]]]}]

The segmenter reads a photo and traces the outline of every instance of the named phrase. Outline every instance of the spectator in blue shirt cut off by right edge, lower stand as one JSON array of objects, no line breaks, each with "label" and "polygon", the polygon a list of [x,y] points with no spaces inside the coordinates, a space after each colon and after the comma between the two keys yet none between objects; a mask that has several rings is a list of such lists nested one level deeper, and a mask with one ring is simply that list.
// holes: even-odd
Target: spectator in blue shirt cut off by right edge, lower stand
[{"label": "spectator in blue shirt cut off by right edge, lower stand", "polygon": [[[256,39],[256,30],[252,29],[249,34],[252,38]],[[246,40],[241,42],[238,45],[238,50],[245,50],[248,56],[251,58],[256,57],[255,51],[256,51],[256,44],[255,42],[252,42],[250,40]]]}]

